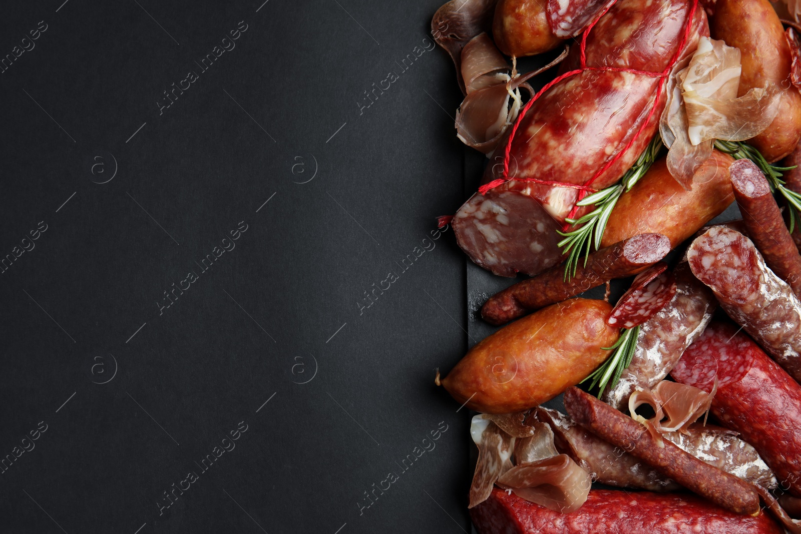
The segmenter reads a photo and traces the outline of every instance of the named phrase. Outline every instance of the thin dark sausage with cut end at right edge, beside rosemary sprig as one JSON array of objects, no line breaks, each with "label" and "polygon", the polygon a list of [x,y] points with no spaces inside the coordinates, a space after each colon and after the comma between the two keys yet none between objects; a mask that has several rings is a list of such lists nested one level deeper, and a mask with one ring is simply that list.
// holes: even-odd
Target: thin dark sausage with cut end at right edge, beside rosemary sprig
[{"label": "thin dark sausage with cut end at right edge, beside rosemary sprig", "polygon": [[790,284],[795,296],[801,295],[801,255],[784,225],[767,178],[750,159],[732,163],[729,174],[743,223],[767,267]]}]

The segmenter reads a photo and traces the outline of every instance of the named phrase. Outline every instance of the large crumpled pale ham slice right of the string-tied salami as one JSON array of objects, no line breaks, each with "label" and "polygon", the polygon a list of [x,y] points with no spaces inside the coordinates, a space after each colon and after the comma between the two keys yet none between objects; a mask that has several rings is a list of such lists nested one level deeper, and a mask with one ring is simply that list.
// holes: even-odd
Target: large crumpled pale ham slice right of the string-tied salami
[{"label": "large crumpled pale ham slice right of the string-tied salami", "polygon": [[739,49],[702,37],[689,64],[670,77],[660,132],[670,147],[670,175],[685,189],[712,154],[714,139],[751,139],[779,112],[775,86],[754,87],[737,97],[740,71]]}]

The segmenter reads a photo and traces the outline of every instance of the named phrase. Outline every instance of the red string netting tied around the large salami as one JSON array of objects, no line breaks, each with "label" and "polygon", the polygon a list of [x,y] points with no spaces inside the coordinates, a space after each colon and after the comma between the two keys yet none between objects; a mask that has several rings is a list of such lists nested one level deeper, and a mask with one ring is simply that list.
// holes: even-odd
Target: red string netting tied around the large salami
[{"label": "red string netting tied around the large salami", "polygon": [[[537,91],[537,94],[534,94],[534,96],[529,100],[529,102],[526,102],[525,106],[520,111],[520,114],[517,115],[517,120],[514,122],[514,124],[512,126],[512,130],[510,130],[510,132],[509,132],[509,140],[506,143],[506,147],[504,149],[503,174],[501,175],[502,177],[499,178],[499,179],[495,179],[492,182],[486,183],[485,185],[479,187],[478,191],[479,191],[479,193],[481,193],[481,195],[485,195],[485,193],[487,191],[489,191],[490,189],[493,189],[494,187],[498,187],[498,186],[500,186],[500,185],[502,185],[504,183],[507,183],[509,181],[530,182],[530,183],[541,183],[543,185],[550,185],[550,186],[554,186],[554,187],[571,187],[571,188],[574,188],[574,189],[578,189],[579,190],[578,191],[578,198],[576,199],[576,202],[578,203],[578,201],[583,199],[588,192],[595,191],[590,186],[592,186],[594,181],[596,179],[598,179],[599,176],[601,176],[610,167],[612,167],[614,165],[614,163],[616,163],[618,161],[618,159],[622,158],[622,156],[624,154],[626,154],[626,151],[628,151],[630,149],[630,147],[632,145],[634,145],[634,142],[642,134],[642,131],[645,130],[645,128],[648,125],[648,123],[650,122],[651,118],[654,117],[654,114],[656,113],[657,107],[659,105],[659,99],[662,97],[662,90],[664,89],[664,86],[665,86],[664,81],[660,82],[658,87],[657,87],[657,91],[656,91],[655,98],[654,98],[654,104],[651,106],[651,109],[648,112],[648,116],[646,117],[646,120],[644,122],[642,122],[642,124],[640,125],[639,129],[637,130],[637,132],[631,137],[631,139],[629,139],[629,142],[626,143],[626,146],[623,147],[622,151],[618,151],[618,154],[616,154],[613,159],[610,159],[609,161],[607,161],[606,164],[601,169],[599,169],[598,172],[596,172],[593,175],[592,178],[587,180],[582,185],[577,185],[577,184],[573,184],[573,183],[564,183],[564,182],[553,182],[553,181],[539,180],[539,179],[533,179],[533,178],[526,178],[526,179],[509,178],[509,159],[511,158],[512,140],[514,139],[514,136],[517,134],[517,128],[520,126],[520,123],[522,122],[523,118],[525,117],[525,114],[531,108],[533,103],[536,102],[538,98],[540,98],[541,94],[543,94],[546,90],[549,90],[554,84],[556,84],[558,82],[561,82],[563,79],[568,78],[570,76],[573,76],[574,74],[578,74],[580,72],[583,72],[584,70],[610,70],[610,71],[613,71],[613,72],[630,72],[632,74],[642,74],[643,76],[649,76],[649,77],[652,77],[652,78],[663,78],[663,80],[666,80],[666,78],[670,75],[670,71],[673,70],[673,67],[678,62],[678,58],[680,58],[681,55],[683,54],[684,47],[686,46],[687,41],[690,39],[690,30],[692,29],[692,22],[693,22],[693,18],[695,17],[695,10],[698,7],[698,0],[692,0],[692,6],[690,7],[690,13],[688,14],[687,19],[686,19],[686,25],[684,27],[684,34],[682,35],[682,41],[679,42],[678,48],[676,49],[676,53],[674,54],[673,58],[670,58],[670,62],[665,67],[665,70],[662,70],[662,72],[652,72],[652,71],[649,71],[649,70],[626,69],[626,68],[622,68],[622,67],[588,67],[587,66],[587,60],[586,60],[587,35],[590,34],[590,30],[592,30],[594,28],[595,24],[599,20],[601,20],[603,15],[606,14],[606,11],[608,11],[611,6],[612,6],[612,4],[610,4],[610,6],[607,6],[606,9],[603,10],[602,13],[599,14],[598,17],[596,17],[592,23],[590,23],[590,26],[587,26],[586,30],[584,30],[584,32],[582,34],[582,43],[581,43],[581,47],[580,47],[581,68],[575,69],[575,70],[570,70],[570,72],[566,72],[564,74],[561,74],[561,75],[557,76],[557,78],[554,78],[551,82],[545,84],[545,86],[541,90]],[[578,212],[578,208],[579,208],[578,204],[574,204],[573,208],[570,210],[570,213],[568,214],[568,219],[574,218],[574,216]],[[570,227],[570,225],[568,225],[566,223],[566,228],[567,227]]]}]

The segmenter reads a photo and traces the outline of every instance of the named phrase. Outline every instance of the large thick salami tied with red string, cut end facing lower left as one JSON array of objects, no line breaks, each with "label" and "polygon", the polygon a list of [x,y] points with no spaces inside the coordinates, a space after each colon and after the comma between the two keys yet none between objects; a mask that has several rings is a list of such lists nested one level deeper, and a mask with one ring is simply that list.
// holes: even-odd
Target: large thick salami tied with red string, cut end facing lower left
[{"label": "large thick salami tied with red string, cut end facing lower left", "polygon": [[[514,137],[509,129],[501,139],[484,176],[484,183],[540,183],[510,180],[476,193],[453,219],[457,243],[473,262],[514,276],[537,275],[562,259],[558,226],[548,215],[562,223],[581,192],[576,184],[597,173],[594,188],[620,179],[650,143],[664,102],[656,94],[663,78],[598,69],[661,72],[678,52],[691,6],[691,0],[618,0],[594,26],[586,42],[588,70],[555,83],[533,102]],[[701,9],[695,10],[685,50],[694,50],[699,34],[708,34]],[[578,62],[578,46],[571,56]],[[503,217],[497,220],[497,214]]]}]

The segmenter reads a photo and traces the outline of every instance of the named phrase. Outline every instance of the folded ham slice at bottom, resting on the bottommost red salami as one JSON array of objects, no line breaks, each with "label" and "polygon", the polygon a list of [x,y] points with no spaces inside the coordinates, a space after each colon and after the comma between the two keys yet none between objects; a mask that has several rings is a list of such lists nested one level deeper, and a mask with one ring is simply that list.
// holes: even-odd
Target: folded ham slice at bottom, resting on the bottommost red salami
[{"label": "folded ham slice at bottom, resting on the bottommost red salami", "polygon": [[587,500],[592,479],[570,456],[560,454],[517,465],[498,479],[498,485],[525,500],[570,513]]}]

